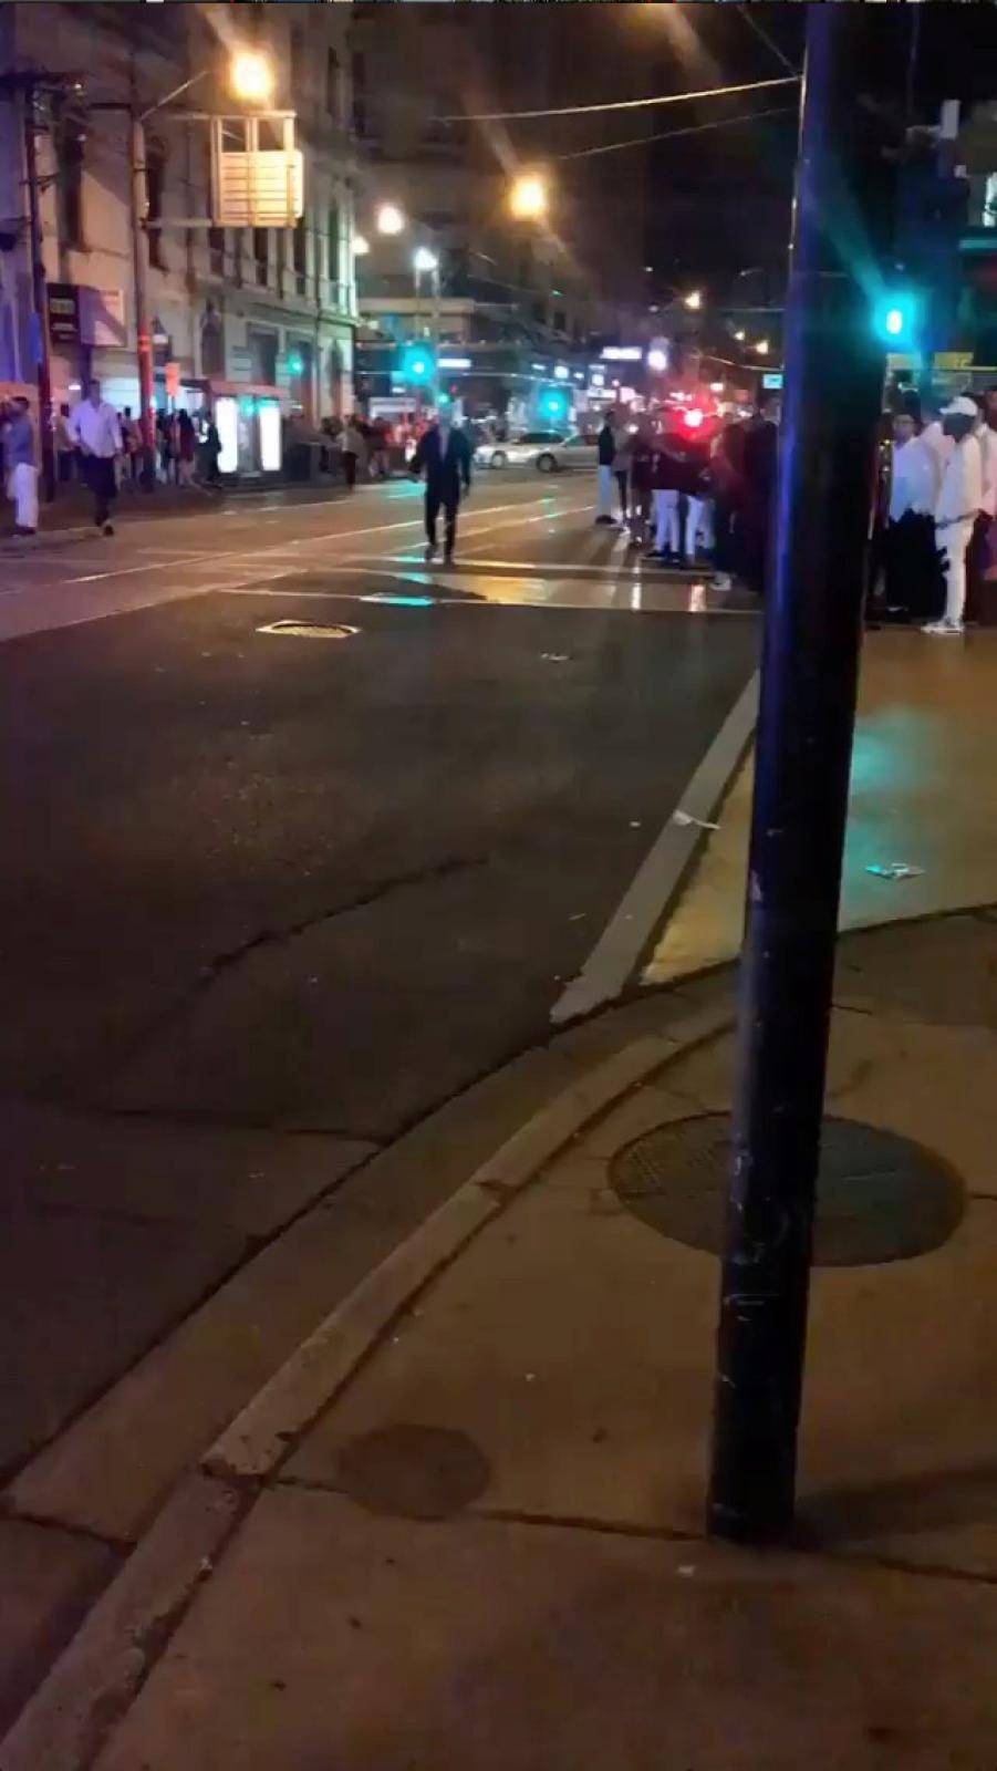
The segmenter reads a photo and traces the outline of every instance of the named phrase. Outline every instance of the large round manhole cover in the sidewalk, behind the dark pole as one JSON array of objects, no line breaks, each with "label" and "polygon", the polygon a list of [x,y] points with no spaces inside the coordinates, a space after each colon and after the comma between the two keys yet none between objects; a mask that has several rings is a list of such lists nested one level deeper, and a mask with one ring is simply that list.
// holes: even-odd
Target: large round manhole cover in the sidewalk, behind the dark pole
[{"label": "large round manhole cover in the sidewalk, behind the dark pole", "polygon": [[[728,1195],[730,1119],[676,1119],[636,1139],[611,1164],[620,1201],[662,1236],[719,1254]],[[940,1249],[965,1194],[937,1156],[896,1132],[825,1119],[815,1263],[873,1266]]]}]

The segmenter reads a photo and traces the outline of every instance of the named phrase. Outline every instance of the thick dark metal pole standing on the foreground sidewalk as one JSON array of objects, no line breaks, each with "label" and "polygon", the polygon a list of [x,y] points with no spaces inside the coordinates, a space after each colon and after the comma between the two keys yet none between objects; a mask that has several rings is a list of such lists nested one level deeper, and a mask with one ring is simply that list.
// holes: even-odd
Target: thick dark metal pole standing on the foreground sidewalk
[{"label": "thick dark metal pole standing on the foreground sidewalk", "polygon": [[721,1289],[710,1530],[792,1523],[882,347],[868,7],[808,9]]}]

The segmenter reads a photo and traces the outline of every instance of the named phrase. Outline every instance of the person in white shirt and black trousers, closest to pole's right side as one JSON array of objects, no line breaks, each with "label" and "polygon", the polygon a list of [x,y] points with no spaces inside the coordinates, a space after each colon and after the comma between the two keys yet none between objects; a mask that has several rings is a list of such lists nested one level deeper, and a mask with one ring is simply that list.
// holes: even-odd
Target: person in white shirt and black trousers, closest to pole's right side
[{"label": "person in white shirt and black trousers, closest to pole's right side", "polygon": [[917,420],[898,413],[893,421],[893,476],[885,531],[885,606],[894,622],[939,616],[944,581],[935,544],[935,505],[942,482],[940,459],[917,434]]}]

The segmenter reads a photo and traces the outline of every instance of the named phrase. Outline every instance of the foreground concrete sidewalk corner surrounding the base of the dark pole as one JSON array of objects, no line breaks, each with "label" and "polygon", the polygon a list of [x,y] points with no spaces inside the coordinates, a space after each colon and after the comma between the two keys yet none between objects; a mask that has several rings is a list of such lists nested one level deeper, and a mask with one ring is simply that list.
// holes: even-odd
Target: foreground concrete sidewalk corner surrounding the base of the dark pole
[{"label": "foreground concrete sidewalk corner surrounding the base of the dark pole", "polygon": [[792,1550],[703,1541],[728,999],[290,1358],[4,1771],[992,1771],[995,976],[993,909],[841,942]]}]

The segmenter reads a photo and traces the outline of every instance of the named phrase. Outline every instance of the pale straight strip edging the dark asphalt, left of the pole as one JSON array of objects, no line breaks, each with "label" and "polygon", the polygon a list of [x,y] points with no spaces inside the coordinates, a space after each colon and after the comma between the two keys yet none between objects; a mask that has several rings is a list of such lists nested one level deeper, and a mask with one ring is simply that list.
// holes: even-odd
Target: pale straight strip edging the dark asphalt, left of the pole
[{"label": "pale straight strip edging the dark asphalt, left of the pole", "polygon": [[[712,818],[747,749],[756,714],[758,671],[731,707],[692,779],[678,795],[676,808],[696,818]],[[669,813],[581,972],[554,1002],[553,1022],[588,1015],[620,995],[682,884],[701,839],[701,829],[694,824],[675,824],[675,815]]]}]

